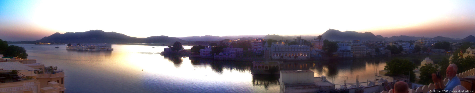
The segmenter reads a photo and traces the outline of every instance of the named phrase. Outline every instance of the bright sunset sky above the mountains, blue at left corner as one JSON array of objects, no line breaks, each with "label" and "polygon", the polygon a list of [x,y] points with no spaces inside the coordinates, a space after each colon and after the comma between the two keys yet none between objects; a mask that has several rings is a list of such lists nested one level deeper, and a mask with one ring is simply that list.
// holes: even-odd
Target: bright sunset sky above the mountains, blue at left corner
[{"label": "bright sunset sky above the mountains, blue at left corner", "polygon": [[0,39],[35,41],[89,30],[133,37],[475,35],[475,0],[0,0]]}]

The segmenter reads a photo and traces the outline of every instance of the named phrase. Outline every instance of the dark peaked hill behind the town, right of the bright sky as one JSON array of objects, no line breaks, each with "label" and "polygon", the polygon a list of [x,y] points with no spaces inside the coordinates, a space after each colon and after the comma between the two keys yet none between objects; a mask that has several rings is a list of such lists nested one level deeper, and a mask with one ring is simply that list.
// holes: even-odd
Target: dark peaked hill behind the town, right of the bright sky
[{"label": "dark peaked hill behind the town, right of the bright sky", "polygon": [[362,41],[383,41],[376,37],[371,32],[358,33],[355,31],[345,31],[341,32],[339,30],[328,29],[325,33],[322,34],[323,39],[328,39],[330,41],[349,41],[349,40],[362,40]]}]

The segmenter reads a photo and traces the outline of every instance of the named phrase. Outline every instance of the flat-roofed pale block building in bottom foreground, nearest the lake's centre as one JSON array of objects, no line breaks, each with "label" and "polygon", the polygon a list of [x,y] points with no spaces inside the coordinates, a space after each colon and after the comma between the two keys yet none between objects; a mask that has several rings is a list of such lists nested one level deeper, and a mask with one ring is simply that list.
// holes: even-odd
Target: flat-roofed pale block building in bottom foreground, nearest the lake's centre
[{"label": "flat-roofed pale block building in bottom foreground, nearest the lake's centre", "polygon": [[335,90],[335,84],[325,76],[314,77],[310,70],[281,70],[280,93],[329,93]]}]

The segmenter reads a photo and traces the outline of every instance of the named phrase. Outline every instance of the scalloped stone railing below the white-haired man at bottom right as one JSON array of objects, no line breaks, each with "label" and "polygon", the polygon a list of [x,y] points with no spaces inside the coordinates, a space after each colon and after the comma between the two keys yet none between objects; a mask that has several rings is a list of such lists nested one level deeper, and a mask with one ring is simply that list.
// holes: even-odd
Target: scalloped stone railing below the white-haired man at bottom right
[{"label": "scalloped stone railing below the white-haired man at bottom right", "polygon": [[[459,73],[456,76],[457,77],[465,77],[465,76],[473,76],[473,75],[475,75],[475,68],[472,68],[472,69],[469,69],[469,70],[464,71],[462,73]],[[444,82],[444,85],[447,84],[448,79],[444,78],[443,82]],[[417,87],[415,89],[410,89],[409,93],[428,93],[428,91],[434,90],[435,88],[436,88],[436,85],[430,83],[429,85],[424,85],[424,86],[421,86],[421,87]],[[392,89],[389,90],[389,92],[382,91],[380,93],[392,93]]]}]

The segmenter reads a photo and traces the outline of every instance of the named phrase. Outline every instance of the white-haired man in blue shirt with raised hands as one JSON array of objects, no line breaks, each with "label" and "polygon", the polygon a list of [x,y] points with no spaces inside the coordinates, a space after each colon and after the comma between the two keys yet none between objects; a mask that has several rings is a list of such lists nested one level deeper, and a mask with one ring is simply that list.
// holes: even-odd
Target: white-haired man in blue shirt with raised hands
[{"label": "white-haired man in blue shirt with raised hands", "polygon": [[446,85],[442,84],[443,83],[442,78],[438,78],[435,73],[432,74],[432,81],[436,85],[436,89],[440,88],[440,89],[448,90],[451,93],[452,89],[454,89],[455,86],[462,85],[460,83],[460,79],[456,76],[457,65],[455,64],[448,65],[446,74],[448,78],[448,82]]}]

